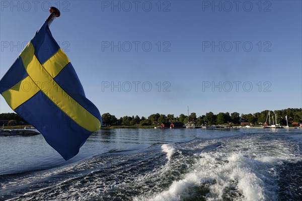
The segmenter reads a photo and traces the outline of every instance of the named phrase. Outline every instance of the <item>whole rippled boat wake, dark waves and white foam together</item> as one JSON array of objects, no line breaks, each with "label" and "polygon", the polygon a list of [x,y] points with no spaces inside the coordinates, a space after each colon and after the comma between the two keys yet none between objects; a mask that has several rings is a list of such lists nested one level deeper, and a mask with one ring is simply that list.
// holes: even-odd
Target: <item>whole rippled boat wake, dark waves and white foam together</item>
[{"label": "whole rippled boat wake, dark waves and white foam together", "polygon": [[[195,138],[143,151],[112,150],[60,168],[6,175],[0,198],[298,200],[301,159],[296,143],[268,139],[266,134]],[[288,179],[292,171],[294,181]]]}]

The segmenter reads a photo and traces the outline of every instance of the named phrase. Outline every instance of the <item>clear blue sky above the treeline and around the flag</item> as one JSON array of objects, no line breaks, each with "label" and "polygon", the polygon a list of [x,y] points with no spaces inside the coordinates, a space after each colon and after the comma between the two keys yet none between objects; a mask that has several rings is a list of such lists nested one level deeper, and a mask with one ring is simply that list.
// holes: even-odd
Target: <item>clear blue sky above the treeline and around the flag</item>
[{"label": "clear blue sky above the treeline and around the flag", "polygon": [[[50,30],[101,114],[302,107],[301,1],[1,1],[1,77],[49,6],[61,11]],[[3,97],[0,112],[12,112]]]}]

